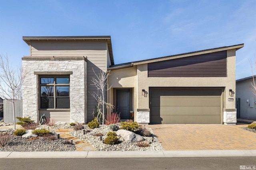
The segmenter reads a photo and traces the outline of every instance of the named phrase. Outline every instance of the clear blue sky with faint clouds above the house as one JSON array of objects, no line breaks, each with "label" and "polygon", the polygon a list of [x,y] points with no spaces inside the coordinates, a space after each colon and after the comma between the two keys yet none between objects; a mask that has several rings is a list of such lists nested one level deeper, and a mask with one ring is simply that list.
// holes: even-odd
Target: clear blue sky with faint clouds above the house
[{"label": "clear blue sky with faint clouds above the house", "polygon": [[244,43],[239,79],[256,57],[256,0],[0,0],[0,53],[14,65],[29,55],[22,36],[76,35],[110,35],[115,64]]}]

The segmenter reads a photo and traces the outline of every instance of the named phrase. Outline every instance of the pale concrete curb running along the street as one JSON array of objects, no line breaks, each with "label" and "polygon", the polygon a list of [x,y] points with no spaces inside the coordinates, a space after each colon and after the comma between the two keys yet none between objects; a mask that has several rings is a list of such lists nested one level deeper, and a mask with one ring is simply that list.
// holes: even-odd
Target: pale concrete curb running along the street
[{"label": "pale concrete curb running along the street", "polygon": [[217,156],[256,156],[256,150],[0,152],[0,158],[167,158]]}]

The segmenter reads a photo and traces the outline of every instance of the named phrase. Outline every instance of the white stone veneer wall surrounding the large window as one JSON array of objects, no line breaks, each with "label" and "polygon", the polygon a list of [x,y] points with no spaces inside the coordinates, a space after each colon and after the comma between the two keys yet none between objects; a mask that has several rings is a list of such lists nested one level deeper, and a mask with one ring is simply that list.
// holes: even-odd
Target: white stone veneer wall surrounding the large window
[{"label": "white stone veneer wall surrounding the large window", "polygon": [[[85,60],[27,60],[22,58],[25,74],[23,82],[23,116],[39,121],[38,75],[34,72],[67,72],[70,74],[70,122],[87,121],[87,63]],[[49,74],[50,75],[50,74]],[[61,111],[61,110],[59,110]]]}]

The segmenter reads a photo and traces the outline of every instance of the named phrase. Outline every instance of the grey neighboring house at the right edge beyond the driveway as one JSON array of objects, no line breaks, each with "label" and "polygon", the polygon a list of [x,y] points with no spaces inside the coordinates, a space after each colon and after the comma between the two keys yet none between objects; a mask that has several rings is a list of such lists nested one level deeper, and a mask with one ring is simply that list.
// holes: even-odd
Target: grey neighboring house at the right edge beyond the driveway
[{"label": "grey neighboring house at the right edge beyond the driveway", "polygon": [[[256,75],[254,81],[256,83]],[[252,92],[252,76],[236,80],[236,108],[238,118],[256,119],[256,96]],[[252,89],[251,89],[252,88]]]}]

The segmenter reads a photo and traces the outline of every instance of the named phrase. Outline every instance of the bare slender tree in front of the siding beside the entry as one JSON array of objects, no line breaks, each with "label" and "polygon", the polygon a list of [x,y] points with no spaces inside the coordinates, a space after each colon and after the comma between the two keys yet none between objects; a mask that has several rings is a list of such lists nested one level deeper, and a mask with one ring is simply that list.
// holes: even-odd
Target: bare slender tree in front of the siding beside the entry
[{"label": "bare slender tree in front of the siding beside the entry", "polygon": [[104,71],[100,70],[100,72],[98,74],[96,74],[94,69],[92,69],[92,70],[95,74],[95,77],[92,78],[91,85],[93,85],[97,88],[97,93],[93,92],[90,94],[92,94],[92,96],[95,98],[95,100],[98,102],[98,104],[100,104],[102,106],[102,116],[99,116],[99,117],[102,117],[102,129],[103,129],[105,106],[106,106],[106,109],[114,108],[114,106],[112,104],[107,103],[105,101],[105,96],[104,96],[104,92],[110,90],[110,88],[111,88],[111,86],[108,87],[108,82],[107,82],[108,75],[110,74],[110,72],[109,71],[104,72]]}]

